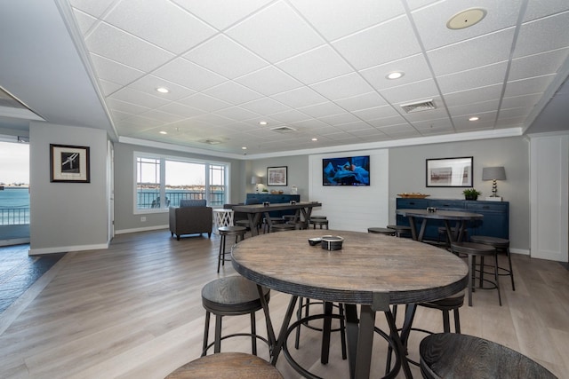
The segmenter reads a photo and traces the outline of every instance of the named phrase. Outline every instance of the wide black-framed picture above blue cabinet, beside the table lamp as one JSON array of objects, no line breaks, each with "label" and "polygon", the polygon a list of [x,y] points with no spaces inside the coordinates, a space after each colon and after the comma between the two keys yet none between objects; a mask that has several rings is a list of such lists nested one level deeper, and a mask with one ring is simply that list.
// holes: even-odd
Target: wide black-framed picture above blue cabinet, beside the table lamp
[{"label": "wide black-framed picture above blue cabinet, beside the table lamp", "polygon": [[471,187],[472,157],[427,160],[428,187]]}]

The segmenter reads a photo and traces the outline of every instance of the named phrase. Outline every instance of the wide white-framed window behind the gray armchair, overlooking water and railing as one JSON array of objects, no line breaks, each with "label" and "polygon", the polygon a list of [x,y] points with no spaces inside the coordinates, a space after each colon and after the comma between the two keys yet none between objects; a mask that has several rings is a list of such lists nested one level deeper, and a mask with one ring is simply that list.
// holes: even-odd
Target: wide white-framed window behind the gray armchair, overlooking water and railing
[{"label": "wide white-framed window behind the gray armchair, overlooking water and railing", "polygon": [[135,153],[135,210],[180,206],[182,199],[206,199],[210,207],[226,201],[228,164],[191,162]]}]

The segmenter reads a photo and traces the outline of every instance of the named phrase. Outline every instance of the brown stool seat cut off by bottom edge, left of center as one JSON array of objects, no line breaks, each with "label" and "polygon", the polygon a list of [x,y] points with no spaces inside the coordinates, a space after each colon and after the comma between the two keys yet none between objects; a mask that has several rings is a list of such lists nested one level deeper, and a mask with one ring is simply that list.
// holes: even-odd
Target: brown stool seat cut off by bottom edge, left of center
[{"label": "brown stool seat cut off by bottom edge, left of center", "polygon": [[220,352],[192,360],[164,379],[283,379],[276,367],[244,352]]}]

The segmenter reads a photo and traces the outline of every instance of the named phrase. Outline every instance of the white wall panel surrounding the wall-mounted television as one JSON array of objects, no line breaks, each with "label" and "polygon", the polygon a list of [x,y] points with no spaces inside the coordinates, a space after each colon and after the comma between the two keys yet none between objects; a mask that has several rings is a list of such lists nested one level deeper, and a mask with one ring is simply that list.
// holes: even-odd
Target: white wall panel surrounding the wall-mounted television
[{"label": "white wall panel surrounding the wall-mounted television", "polygon": [[[370,186],[323,186],[323,158],[370,155]],[[388,150],[341,152],[309,156],[309,200],[322,202],[314,215],[327,217],[330,229],[367,232],[389,222]]]}]

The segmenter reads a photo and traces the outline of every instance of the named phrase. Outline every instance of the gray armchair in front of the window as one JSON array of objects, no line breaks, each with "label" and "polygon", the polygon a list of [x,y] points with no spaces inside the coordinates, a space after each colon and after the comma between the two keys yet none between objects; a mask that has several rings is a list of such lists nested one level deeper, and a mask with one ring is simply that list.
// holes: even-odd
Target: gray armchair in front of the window
[{"label": "gray armchair in front of the window", "polygon": [[182,234],[207,233],[212,237],[213,209],[205,201],[180,201],[180,207],[170,207],[170,233],[180,241]]}]

